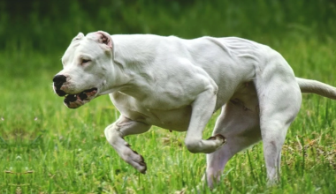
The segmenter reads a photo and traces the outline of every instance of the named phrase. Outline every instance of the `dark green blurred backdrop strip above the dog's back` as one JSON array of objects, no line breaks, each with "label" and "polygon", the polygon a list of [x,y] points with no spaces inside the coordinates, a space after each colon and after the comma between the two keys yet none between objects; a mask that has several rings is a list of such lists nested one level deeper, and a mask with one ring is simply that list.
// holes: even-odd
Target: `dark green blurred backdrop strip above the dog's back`
[{"label": "dark green blurred backdrop strip above the dog's back", "polygon": [[[265,43],[336,33],[334,0],[2,1],[1,49],[62,53],[78,32],[241,36]],[[271,41],[272,42],[272,41]]]}]

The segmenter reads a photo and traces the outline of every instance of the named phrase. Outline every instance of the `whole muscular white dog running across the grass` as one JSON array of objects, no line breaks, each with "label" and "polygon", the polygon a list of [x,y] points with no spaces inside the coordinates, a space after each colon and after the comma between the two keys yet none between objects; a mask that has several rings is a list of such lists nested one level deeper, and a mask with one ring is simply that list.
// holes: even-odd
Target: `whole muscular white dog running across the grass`
[{"label": "whole muscular white dog running across the grass", "polygon": [[[187,131],[192,153],[207,155],[210,187],[235,153],[263,140],[269,183],[279,178],[286,131],[302,93],[336,99],[336,88],[295,78],[275,50],[240,38],[184,40],[151,34],[78,34],[62,58],[54,90],[68,108],[103,94],[121,116],[105,129],[118,155],[141,173],[146,163],[123,137],[156,125]],[[202,139],[212,114],[222,108],[213,137]]]}]

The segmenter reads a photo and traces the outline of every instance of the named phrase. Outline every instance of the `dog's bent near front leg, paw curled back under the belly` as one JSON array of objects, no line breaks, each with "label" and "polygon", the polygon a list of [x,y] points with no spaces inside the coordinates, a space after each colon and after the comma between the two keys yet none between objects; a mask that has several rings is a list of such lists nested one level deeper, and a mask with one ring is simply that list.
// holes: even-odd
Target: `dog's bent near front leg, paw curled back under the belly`
[{"label": "dog's bent near front leg, paw curled back under the belly", "polygon": [[209,122],[216,106],[217,90],[210,88],[198,94],[192,104],[192,114],[185,144],[191,153],[213,153],[225,144],[225,138],[217,134],[207,140],[202,139],[202,131]]}]

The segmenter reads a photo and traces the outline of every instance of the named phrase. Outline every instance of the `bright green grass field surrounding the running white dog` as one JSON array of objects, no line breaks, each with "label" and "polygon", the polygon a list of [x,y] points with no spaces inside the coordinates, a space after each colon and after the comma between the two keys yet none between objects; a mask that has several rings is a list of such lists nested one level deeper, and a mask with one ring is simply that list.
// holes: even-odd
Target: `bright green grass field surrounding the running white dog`
[{"label": "bright green grass field surrounding the running white dog", "polygon": [[[136,17],[132,15],[134,10],[141,10],[139,4],[127,8],[130,18]],[[258,5],[262,7],[263,1],[258,1]],[[289,15],[294,14],[295,6],[287,10]],[[179,6],[175,6],[175,10],[167,8],[158,15],[154,11],[138,11],[136,21],[145,21],[147,26],[124,19],[128,28],[118,26],[115,31],[109,31],[111,26],[95,26],[92,20],[91,26],[79,22],[69,32],[63,28],[59,31],[65,32],[63,37],[66,38],[59,43],[53,41],[52,34],[46,36],[48,44],[56,48],[47,48],[44,41],[36,41],[34,36],[31,40],[21,40],[18,47],[12,46],[17,45],[14,39],[4,41],[6,47],[0,50],[0,193],[195,193],[195,190],[200,193],[336,193],[336,101],[303,94],[300,114],[287,133],[278,185],[266,187],[262,144],[257,144],[234,156],[225,168],[221,184],[210,191],[201,183],[205,155],[187,151],[183,143],[185,133],[153,127],[145,134],[126,137],[147,162],[148,172],[141,175],[118,157],[103,136],[104,128],[118,118],[118,111],[107,95],[81,108],[69,109],[63,105],[63,99],[52,92],[51,79],[62,68],[60,57],[66,44],[77,30],[88,33],[98,29],[106,29],[111,34],[176,32],[175,35],[186,38],[240,35],[278,50],[291,64],[296,76],[336,86],[336,39],[332,35],[336,27],[331,26],[335,19],[329,18],[336,15],[334,10],[325,13],[323,8],[315,6],[323,16],[311,19],[311,27],[307,25],[309,18],[301,22],[298,17],[292,23],[282,18],[274,32],[270,29],[263,32],[262,27],[255,29],[249,23],[256,21],[256,16],[251,14],[249,19],[239,11],[234,12],[237,7],[249,11],[248,6],[235,4],[227,8],[226,11],[233,11],[232,15],[242,20],[234,23],[235,18],[231,17],[225,20],[223,28],[209,24],[202,17],[197,18],[202,7],[204,17],[210,18],[216,5],[195,5],[181,19],[174,15]],[[312,7],[307,6],[303,17],[310,16],[314,11]],[[75,5],[72,9],[87,19]],[[275,8],[273,11],[284,14]],[[153,16],[157,16],[157,20],[152,19]],[[221,18],[216,14],[213,17],[215,23]],[[189,24],[188,19],[200,23],[193,20]],[[263,22],[271,26],[271,20]],[[263,22],[257,24],[263,25]],[[30,34],[39,34],[37,23],[35,21]],[[6,25],[6,22],[0,19],[0,24]],[[48,29],[51,24],[48,18],[41,21],[41,26],[47,27],[43,28],[47,34],[51,32]],[[64,26],[71,24],[69,21]],[[199,24],[203,26],[198,29]],[[281,30],[279,26],[286,26],[286,33],[275,33]],[[29,33],[23,34],[25,36]],[[211,119],[203,138],[210,137],[216,116],[218,113]]]}]

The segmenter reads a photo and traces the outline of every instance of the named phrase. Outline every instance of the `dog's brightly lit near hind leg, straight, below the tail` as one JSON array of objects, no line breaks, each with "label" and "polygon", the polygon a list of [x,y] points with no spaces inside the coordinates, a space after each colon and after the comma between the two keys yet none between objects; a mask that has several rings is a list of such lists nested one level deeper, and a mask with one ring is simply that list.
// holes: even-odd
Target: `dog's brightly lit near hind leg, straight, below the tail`
[{"label": "dog's brightly lit near hind leg, straight, below the tail", "polygon": [[280,60],[271,61],[267,68],[258,72],[256,78],[263,156],[269,185],[279,180],[280,153],[286,132],[302,102],[302,93],[293,71],[284,65],[284,60]]}]

